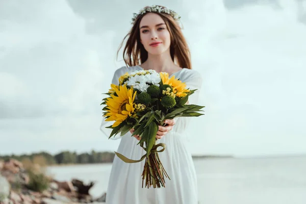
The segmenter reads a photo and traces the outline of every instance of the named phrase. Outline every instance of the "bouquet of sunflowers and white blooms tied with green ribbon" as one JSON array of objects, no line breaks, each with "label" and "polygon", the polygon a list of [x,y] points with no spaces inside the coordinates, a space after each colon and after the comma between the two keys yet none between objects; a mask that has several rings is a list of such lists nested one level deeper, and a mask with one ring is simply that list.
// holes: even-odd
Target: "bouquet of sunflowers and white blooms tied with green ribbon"
[{"label": "bouquet of sunflowers and white blooms tied with green ribbon", "polygon": [[[103,99],[103,117],[106,121],[114,121],[111,126],[113,135],[120,133],[125,135],[134,129],[134,135],[140,136],[139,145],[146,154],[139,160],[131,160],[115,152],[118,158],[126,163],[141,162],[145,159],[142,172],[142,188],[165,187],[165,178],[170,180],[160,159],[159,152],[166,148],[166,144],[157,143],[156,134],[158,125],[165,126],[166,119],[176,117],[198,117],[198,113],[205,106],[187,105],[188,96],[194,90],[186,89],[186,84],[174,75],[169,79],[166,72],[155,70],[141,70],[132,73],[126,72],[121,75],[119,85],[111,84],[107,94],[109,97]],[[137,145],[138,145],[137,144]],[[158,150],[158,147],[162,149]]]}]

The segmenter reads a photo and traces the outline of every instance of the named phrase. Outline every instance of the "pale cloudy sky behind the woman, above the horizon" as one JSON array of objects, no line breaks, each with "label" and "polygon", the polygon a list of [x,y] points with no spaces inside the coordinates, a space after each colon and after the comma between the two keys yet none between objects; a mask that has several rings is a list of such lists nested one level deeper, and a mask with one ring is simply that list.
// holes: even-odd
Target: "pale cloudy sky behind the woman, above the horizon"
[{"label": "pale cloudy sky behind the woman, above the horizon", "polygon": [[101,93],[133,13],[154,4],[182,16],[203,79],[192,154],[306,154],[306,1],[0,0],[0,155],[116,150]]}]

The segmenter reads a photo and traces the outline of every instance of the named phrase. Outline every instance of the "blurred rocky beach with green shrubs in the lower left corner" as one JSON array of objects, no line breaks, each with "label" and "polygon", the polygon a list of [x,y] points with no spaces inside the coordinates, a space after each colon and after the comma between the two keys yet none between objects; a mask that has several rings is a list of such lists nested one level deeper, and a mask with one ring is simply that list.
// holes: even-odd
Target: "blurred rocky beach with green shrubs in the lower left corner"
[{"label": "blurred rocky beach with green shrubs in the lower left corner", "polygon": [[106,193],[94,198],[89,190],[94,182],[78,179],[57,181],[44,174],[38,164],[25,166],[10,159],[0,161],[0,203],[105,203]]}]

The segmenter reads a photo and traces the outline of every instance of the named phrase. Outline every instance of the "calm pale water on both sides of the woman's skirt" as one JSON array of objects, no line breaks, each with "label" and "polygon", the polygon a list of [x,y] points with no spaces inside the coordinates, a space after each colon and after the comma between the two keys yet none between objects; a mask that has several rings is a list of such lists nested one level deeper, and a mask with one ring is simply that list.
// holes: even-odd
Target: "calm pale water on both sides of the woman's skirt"
[{"label": "calm pale water on both sides of the woman's skirt", "polygon": [[[306,157],[195,159],[199,203],[305,204]],[[111,164],[54,166],[48,172],[64,181],[96,181],[90,193],[107,190]]]}]

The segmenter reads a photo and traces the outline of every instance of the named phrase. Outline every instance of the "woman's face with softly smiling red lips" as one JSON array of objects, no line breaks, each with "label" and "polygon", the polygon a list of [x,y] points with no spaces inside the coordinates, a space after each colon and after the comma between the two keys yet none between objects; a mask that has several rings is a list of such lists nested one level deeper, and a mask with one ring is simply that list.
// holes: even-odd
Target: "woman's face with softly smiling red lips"
[{"label": "woman's face with softly smiling red lips", "polygon": [[149,54],[160,55],[169,49],[170,33],[165,21],[158,14],[148,13],[143,16],[139,29],[140,42]]}]

